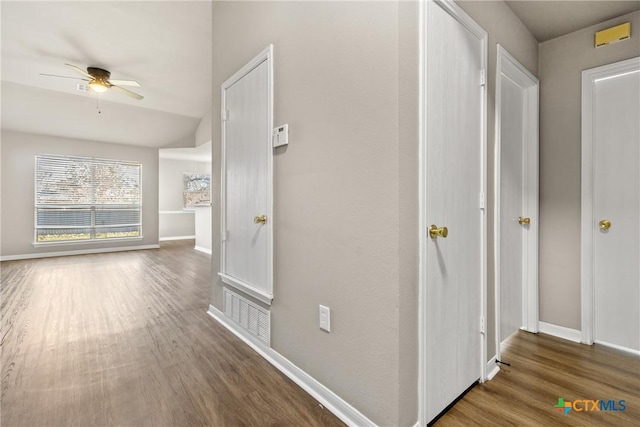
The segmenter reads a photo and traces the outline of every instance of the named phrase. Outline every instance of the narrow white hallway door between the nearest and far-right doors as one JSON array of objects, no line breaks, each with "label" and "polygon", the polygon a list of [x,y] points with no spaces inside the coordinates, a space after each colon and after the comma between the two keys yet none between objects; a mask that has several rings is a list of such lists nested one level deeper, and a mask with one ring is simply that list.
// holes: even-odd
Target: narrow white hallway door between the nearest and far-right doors
[{"label": "narrow white hallway door between the nearest and far-right doors", "polygon": [[538,324],[538,79],[502,46],[496,72],[496,326]]}]

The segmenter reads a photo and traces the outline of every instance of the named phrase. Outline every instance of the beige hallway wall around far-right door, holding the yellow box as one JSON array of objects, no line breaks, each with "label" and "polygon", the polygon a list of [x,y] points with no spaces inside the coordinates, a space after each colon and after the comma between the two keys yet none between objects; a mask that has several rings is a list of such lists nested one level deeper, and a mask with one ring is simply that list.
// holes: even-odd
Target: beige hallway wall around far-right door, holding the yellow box
[{"label": "beige hallway wall around far-right door, holding the yellow box", "polygon": [[[596,31],[631,22],[598,49]],[[640,12],[540,44],[540,320],[580,330],[582,71],[640,56]]]}]

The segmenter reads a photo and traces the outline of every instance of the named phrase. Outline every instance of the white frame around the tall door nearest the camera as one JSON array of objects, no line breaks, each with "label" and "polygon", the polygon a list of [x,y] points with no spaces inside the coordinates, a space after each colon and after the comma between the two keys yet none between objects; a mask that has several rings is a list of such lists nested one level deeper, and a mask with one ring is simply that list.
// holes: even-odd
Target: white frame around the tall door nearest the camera
[{"label": "white frame around the tall door nearest the camera", "polygon": [[[478,326],[482,332],[481,337],[481,348],[480,353],[478,354],[478,372],[480,372],[480,380],[484,381],[487,377],[486,371],[486,357],[487,357],[487,334],[486,334],[486,312],[487,312],[487,215],[486,215],[486,205],[484,204],[485,195],[487,194],[487,85],[486,85],[486,70],[487,70],[487,44],[488,44],[488,35],[487,32],[480,27],[466,12],[460,8],[453,0],[420,0],[419,4],[419,120],[418,120],[418,139],[419,139],[419,220],[418,220],[418,240],[419,240],[419,272],[418,272],[418,407],[419,407],[419,415],[418,415],[418,424],[420,426],[426,426],[430,421],[427,419],[427,398],[428,398],[428,387],[427,387],[427,361],[429,357],[429,347],[426,337],[426,321],[427,321],[427,299],[428,295],[426,292],[426,245],[428,243],[428,231],[427,231],[427,222],[425,220],[426,214],[426,201],[428,200],[428,189],[426,186],[426,167],[428,165],[427,150],[426,146],[429,141],[427,141],[427,132],[426,132],[426,111],[427,111],[427,99],[429,95],[429,89],[427,87],[427,63],[429,58],[427,56],[427,28],[426,28],[426,18],[427,18],[427,3],[433,2],[442,7],[444,11],[446,11],[449,15],[451,15],[456,21],[458,21],[461,25],[463,25],[467,30],[469,30],[472,34],[474,34],[482,44],[482,70],[478,70],[479,74],[483,74],[485,77],[485,84],[481,85],[481,80],[479,78],[478,87],[483,88],[482,92],[482,159],[481,159],[481,171],[482,171],[482,183],[481,183],[481,192],[479,195],[479,203],[482,204],[483,208],[478,209],[478,214],[481,218],[481,278],[480,278],[480,294],[482,297],[480,298],[480,314],[481,319],[478,319]],[[479,218],[479,219],[480,219]]]}]

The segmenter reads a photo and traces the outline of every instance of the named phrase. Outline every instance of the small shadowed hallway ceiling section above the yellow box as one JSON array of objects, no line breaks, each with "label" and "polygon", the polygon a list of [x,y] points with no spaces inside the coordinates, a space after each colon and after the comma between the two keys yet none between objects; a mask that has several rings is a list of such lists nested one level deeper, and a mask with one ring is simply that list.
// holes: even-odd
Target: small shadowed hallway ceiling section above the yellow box
[{"label": "small shadowed hallway ceiling section above the yellow box", "polygon": [[640,1],[507,1],[531,34],[544,42],[640,10]]}]

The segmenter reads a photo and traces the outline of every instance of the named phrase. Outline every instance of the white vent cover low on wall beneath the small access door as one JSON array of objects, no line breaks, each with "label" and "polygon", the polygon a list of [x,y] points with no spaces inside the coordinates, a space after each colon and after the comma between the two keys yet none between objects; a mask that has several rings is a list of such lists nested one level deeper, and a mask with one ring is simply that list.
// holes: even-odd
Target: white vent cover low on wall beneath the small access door
[{"label": "white vent cover low on wall beneath the small access door", "polygon": [[227,288],[223,289],[224,314],[260,341],[269,345],[271,316],[264,308],[241,297]]}]

